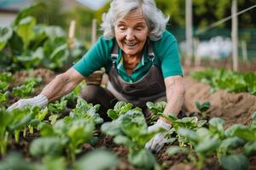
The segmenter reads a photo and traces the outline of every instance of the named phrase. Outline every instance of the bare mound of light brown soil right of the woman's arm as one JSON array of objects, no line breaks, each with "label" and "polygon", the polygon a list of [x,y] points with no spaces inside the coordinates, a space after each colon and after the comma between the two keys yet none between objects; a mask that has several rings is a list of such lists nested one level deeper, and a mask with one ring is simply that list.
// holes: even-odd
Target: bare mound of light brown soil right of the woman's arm
[{"label": "bare mound of light brown soil right of the woman's arm", "polygon": [[211,108],[207,111],[210,117],[221,117],[226,122],[226,127],[235,123],[247,124],[252,121],[251,115],[256,111],[256,96],[247,93],[230,94],[224,90],[211,94],[211,87],[203,82],[196,82],[190,77],[184,77],[186,88],[185,108],[197,111],[195,100],[199,102],[208,100]]}]

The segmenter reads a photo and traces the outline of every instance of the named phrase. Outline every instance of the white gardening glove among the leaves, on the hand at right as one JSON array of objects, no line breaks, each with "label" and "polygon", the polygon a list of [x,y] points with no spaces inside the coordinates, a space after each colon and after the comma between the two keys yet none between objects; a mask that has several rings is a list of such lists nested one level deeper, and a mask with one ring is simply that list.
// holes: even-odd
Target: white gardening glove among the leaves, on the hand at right
[{"label": "white gardening glove among the leaves, on the hand at right", "polygon": [[[148,131],[152,132],[160,127],[168,131],[171,129],[172,125],[159,119],[154,125],[148,127]],[[164,144],[167,142],[165,136],[166,133],[157,133],[152,139],[149,140],[149,142],[145,145],[145,148],[148,150],[154,150],[156,152],[159,152]]]}]

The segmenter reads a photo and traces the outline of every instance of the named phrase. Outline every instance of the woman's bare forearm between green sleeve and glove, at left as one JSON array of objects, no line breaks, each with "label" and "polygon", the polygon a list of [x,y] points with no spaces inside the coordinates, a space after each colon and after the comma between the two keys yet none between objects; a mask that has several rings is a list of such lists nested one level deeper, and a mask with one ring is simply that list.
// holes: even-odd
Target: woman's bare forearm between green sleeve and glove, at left
[{"label": "woman's bare forearm between green sleeve and glove, at left", "polygon": [[71,92],[73,88],[83,80],[84,77],[71,67],[69,70],[56,76],[51,82],[49,82],[41,94],[46,96],[48,101],[53,101]]}]

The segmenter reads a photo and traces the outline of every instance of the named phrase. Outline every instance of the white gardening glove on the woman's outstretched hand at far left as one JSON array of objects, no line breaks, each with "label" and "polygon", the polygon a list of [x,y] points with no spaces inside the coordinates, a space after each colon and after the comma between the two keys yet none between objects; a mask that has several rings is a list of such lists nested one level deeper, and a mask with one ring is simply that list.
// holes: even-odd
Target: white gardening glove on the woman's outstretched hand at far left
[{"label": "white gardening glove on the woman's outstretched hand at far left", "polygon": [[47,105],[47,104],[48,104],[47,97],[44,96],[43,94],[39,94],[33,98],[19,99],[15,104],[9,106],[7,111],[13,111],[14,109],[22,109],[26,105],[31,105],[31,106],[38,105],[40,107],[44,107],[44,105]]}]

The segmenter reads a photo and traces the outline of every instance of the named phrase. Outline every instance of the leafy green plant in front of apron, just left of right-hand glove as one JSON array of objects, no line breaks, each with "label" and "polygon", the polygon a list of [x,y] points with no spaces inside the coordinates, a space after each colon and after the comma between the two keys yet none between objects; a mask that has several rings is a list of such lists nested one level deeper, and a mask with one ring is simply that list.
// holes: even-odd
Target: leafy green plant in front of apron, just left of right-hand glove
[{"label": "leafy green plant in front of apron, just left of right-hand glove", "polygon": [[149,150],[144,149],[144,146],[156,133],[163,131],[158,129],[148,132],[143,112],[139,108],[126,111],[113,122],[102,124],[103,133],[114,136],[113,141],[116,144],[128,147],[128,160],[131,164],[143,169],[158,167],[154,156]]}]

